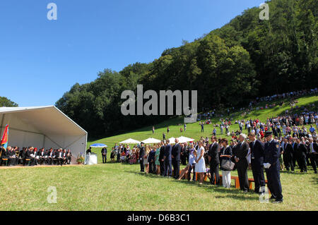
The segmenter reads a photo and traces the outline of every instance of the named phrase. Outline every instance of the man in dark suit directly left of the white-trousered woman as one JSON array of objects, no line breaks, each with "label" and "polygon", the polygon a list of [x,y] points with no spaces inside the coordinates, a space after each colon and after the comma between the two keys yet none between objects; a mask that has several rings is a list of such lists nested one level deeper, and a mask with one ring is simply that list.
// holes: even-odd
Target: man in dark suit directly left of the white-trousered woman
[{"label": "man in dark suit directly left of the white-trousered woman", "polygon": [[220,147],[218,146],[218,142],[216,140],[216,136],[212,136],[212,143],[208,147],[208,163],[210,164],[210,182],[211,184],[216,184],[218,186],[220,184],[220,175],[218,173],[218,168],[220,165],[220,158],[218,157],[218,152],[220,151]]}]

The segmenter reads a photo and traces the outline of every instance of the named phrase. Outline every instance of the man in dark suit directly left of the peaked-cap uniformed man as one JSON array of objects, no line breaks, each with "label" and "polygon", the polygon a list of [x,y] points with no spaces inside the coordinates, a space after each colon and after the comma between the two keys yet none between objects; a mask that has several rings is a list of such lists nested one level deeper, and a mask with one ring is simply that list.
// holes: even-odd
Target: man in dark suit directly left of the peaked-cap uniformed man
[{"label": "man in dark suit directly left of the peaked-cap uniformed man", "polygon": [[251,150],[251,166],[255,183],[255,193],[265,192],[265,178],[264,178],[264,145],[255,138],[255,130],[249,133],[249,148]]}]

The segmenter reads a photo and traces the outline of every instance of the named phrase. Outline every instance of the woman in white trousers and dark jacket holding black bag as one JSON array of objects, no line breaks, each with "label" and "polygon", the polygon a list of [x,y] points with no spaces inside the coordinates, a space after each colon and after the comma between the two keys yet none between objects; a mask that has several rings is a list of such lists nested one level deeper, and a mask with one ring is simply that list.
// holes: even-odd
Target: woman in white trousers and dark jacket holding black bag
[{"label": "woman in white trousers and dark jacket holding black bag", "polygon": [[220,151],[222,184],[224,188],[230,188],[231,187],[231,169],[228,168],[228,166],[225,166],[225,163],[228,162],[228,164],[229,163],[232,164],[231,162],[232,147],[228,145],[228,140],[225,138],[221,140],[221,145],[223,146],[222,150]]}]

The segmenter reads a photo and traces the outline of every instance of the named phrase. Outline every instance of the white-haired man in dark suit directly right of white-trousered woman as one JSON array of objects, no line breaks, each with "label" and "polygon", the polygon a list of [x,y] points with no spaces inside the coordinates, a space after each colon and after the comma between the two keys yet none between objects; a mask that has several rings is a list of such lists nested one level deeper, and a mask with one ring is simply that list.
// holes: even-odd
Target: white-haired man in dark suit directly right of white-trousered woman
[{"label": "white-haired man in dark suit directly right of white-trousered woman", "polygon": [[240,181],[240,189],[244,192],[249,191],[249,181],[247,177],[247,154],[249,152],[249,144],[245,141],[246,135],[241,133],[239,136],[240,143],[237,144],[235,152],[235,162],[237,174]]}]

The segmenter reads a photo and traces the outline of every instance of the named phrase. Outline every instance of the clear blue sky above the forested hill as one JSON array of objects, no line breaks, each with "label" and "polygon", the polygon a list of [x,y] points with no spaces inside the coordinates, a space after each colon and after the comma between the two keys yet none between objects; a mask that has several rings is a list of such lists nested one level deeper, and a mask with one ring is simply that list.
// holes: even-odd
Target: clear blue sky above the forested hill
[{"label": "clear blue sky above the forested hill", "polygon": [[[47,20],[47,4],[57,20]],[[1,0],[0,96],[52,105],[99,71],[158,59],[261,0]]]}]

